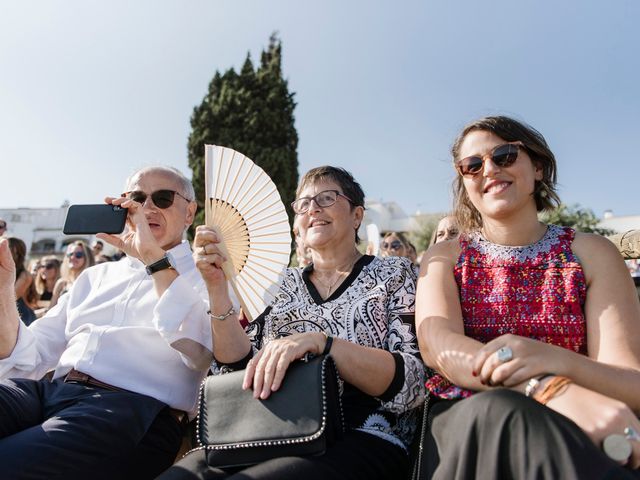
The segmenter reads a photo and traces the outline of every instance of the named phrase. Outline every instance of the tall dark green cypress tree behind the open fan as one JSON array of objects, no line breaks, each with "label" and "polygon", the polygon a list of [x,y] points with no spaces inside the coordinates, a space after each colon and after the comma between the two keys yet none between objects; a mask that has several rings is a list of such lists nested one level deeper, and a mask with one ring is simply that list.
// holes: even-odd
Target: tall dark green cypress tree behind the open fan
[{"label": "tall dark green cypress tree behind the open fan", "polygon": [[282,44],[274,34],[254,68],[251,56],[236,73],[216,72],[202,103],[193,109],[189,135],[189,167],[200,207],[194,224],[204,223],[204,146],[233,148],[262,167],[289,204],[298,183],[298,133],[294,126],[296,103],[282,77]]}]

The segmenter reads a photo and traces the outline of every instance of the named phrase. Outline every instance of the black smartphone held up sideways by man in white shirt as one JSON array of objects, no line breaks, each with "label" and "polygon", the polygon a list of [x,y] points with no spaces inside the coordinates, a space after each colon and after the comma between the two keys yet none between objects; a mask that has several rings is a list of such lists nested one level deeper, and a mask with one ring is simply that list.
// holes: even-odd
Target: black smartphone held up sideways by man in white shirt
[{"label": "black smartphone held up sideways by man in white shirt", "polygon": [[118,205],[71,205],[62,232],[65,235],[122,233],[126,221],[127,209]]}]

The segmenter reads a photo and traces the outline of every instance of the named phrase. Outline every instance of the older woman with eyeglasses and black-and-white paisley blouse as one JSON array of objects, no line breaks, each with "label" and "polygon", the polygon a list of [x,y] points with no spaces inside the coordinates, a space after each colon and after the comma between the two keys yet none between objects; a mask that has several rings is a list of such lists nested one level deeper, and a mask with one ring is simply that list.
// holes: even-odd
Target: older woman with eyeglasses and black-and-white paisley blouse
[{"label": "older woman with eyeglasses and black-and-white paisley blouse", "polygon": [[204,451],[196,451],[162,479],[374,480],[407,474],[414,408],[424,395],[413,330],[415,274],[405,258],[362,255],[356,248],[364,193],[347,171],[307,172],[292,207],[312,263],[287,269],[281,294],[246,331],[232,308],[218,239],[207,227],[196,231],[196,264],[213,306],[213,370],[246,366],[245,387],[266,399],[277,394],[291,362],[330,353],[344,380],[348,430],[321,456],[274,458],[239,471],[209,467]]}]

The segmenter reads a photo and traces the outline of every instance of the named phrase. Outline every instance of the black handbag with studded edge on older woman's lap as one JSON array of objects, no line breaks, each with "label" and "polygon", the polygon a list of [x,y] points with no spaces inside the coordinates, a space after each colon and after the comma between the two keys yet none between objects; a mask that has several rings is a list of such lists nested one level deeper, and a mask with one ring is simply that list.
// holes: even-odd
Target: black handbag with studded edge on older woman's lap
[{"label": "black handbag with studded edge on older woman's lap", "polygon": [[338,372],[329,355],[289,365],[266,400],[242,389],[244,370],[207,377],[200,388],[196,450],[212,467],[281,456],[321,455],[344,433]]}]

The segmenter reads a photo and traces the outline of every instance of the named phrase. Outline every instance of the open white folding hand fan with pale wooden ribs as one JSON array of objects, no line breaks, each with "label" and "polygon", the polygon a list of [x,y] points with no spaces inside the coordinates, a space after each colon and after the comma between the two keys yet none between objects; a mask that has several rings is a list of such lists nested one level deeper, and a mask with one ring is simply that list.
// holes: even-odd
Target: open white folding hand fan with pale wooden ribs
[{"label": "open white folding hand fan with pale wooden ribs", "polygon": [[205,145],[205,223],[222,239],[222,266],[251,321],[275,297],[291,253],[289,218],[262,168],[230,148]]}]

